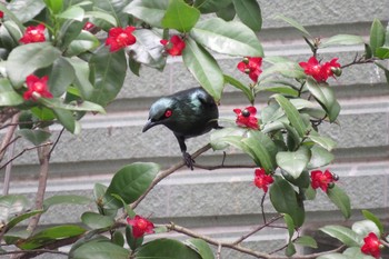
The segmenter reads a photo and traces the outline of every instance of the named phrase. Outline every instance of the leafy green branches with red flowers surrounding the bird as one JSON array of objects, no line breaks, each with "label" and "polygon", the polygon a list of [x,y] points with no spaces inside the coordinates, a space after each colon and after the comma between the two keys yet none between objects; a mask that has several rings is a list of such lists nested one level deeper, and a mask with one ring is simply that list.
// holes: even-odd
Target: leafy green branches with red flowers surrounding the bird
[{"label": "leafy green branches with red flowers surrounding the bird", "polygon": [[[279,16],[302,34],[312,51],[313,64],[279,57],[265,58],[256,34],[262,24],[261,10],[255,0],[13,0],[0,3],[0,10],[3,13],[0,111],[12,108],[20,112],[20,121],[26,119],[26,123],[20,123],[16,135],[39,148],[56,146],[50,142],[51,124],[58,123],[79,133],[82,117],[87,112],[104,113],[107,104],[123,87],[127,73],[139,76],[143,66],[163,71],[169,54],[182,54],[183,66],[217,102],[227,83],[241,91],[251,107],[236,109],[236,123],[215,131],[210,143],[215,150],[230,146],[241,150],[266,173],[266,177],[263,173],[257,176],[256,185],[265,193],[270,185],[270,201],[289,232],[285,247],[288,257],[296,253],[296,245],[317,247],[313,238],[300,236],[298,230],[305,223],[305,205],[315,199],[317,192],[310,171],[333,160],[331,151],[336,143],[319,130],[321,123],[336,123],[340,112],[327,79],[340,77],[342,69],[357,63],[375,63],[385,71],[389,83],[389,69],[382,62],[389,59],[389,32],[377,19],[372,22],[368,42],[349,34],[333,36],[321,42],[297,21]],[[233,19],[236,16],[240,21]],[[87,27],[88,22],[92,27]],[[33,33],[38,33],[39,39]],[[329,46],[363,43],[366,52],[348,64],[340,66],[336,57],[322,63],[316,59]],[[216,53],[242,58],[238,68],[251,73],[252,82],[247,84],[226,74]],[[270,64],[263,71],[262,61]],[[320,74],[315,71],[317,66]],[[34,81],[28,80],[31,74]],[[262,92],[271,96],[257,116],[253,104]],[[47,160],[51,151],[43,156]],[[41,165],[43,161],[40,159]],[[174,225],[156,227],[151,232],[169,229],[197,238],[143,240],[142,235],[151,233],[150,229],[142,229],[142,223],[148,220],[137,217],[133,209],[164,177],[159,170],[158,165],[136,162],[118,170],[108,187],[96,183],[92,200],[96,208],[93,212],[82,215],[83,227],[60,225],[33,231],[37,225],[30,223],[27,230],[16,230],[24,220],[32,221],[56,205],[84,205],[91,202],[89,198],[57,196],[33,208],[23,196],[2,196],[0,238],[7,246],[32,250],[37,255],[43,252],[41,249],[71,245],[69,258],[213,258],[208,243],[216,242]],[[316,180],[327,180],[321,189],[345,218],[349,218],[350,200],[336,183],[337,176],[331,172],[316,176]],[[265,183],[261,182],[263,179]],[[120,215],[121,209],[123,215]],[[351,228],[326,226],[320,229],[348,247],[342,252],[345,258],[350,252],[362,258],[359,248],[370,232],[386,243],[380,220],[369,211],[363,211],[363,216],[366,220]],[[130,226],[126,218],[130,218],[130,222],[132,218],[144,221]],[[134,227],[140,229],[137,235],[133,235]],[[119,231],[122,228],[124,235]],[[103,233],[110,233],[110,237]],[[258,256],[256,251],[242,250],[239,245],[242,240],[227,245],[219,242],[219,247]],[[0,252],[7,253],[1,249]],[[343,258],[339,255],[333,252],[319,258]],[[258,257],[270,258],[271,255]]]}]

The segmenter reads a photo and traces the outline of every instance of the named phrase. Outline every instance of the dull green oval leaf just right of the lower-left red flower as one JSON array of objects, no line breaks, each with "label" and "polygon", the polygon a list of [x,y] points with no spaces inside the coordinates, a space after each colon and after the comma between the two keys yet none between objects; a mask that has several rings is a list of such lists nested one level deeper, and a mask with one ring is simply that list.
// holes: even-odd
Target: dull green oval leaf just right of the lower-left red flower
[{"label": "dull green oval leaf just right of the lower-left red flower", "polygon": [[49,82],[50,86],[50,92],[54,97],[62,96],[70,83],[74,80],[74,69],[73,67],[68,62],[67,59],[60,57],[58,58],[53,64],[52,69],[49,74]]}]

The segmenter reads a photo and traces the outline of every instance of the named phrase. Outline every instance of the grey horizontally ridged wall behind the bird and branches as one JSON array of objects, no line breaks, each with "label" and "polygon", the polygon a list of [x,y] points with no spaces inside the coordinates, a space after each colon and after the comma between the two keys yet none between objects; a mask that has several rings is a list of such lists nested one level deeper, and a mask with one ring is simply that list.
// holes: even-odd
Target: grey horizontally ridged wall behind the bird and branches
[{"label": "grey horizontally ridged wall behind the bird and branches", "polygon": [[[336,33],[367,37],[373,18],[383,24],[389,20],[388,0],[259,2],[263,14],[263,30],[259,38],[266,56],[283,56],[297,61],[308,60],[310,50],[297,30],[272,19],[277,13],[300,21],[311,34],[322,38]],[[335,47],[320,51],[320,57],[326,60],[339,57],[340,63],[347,63],[352,61],[356,52],[362,51],[361,46]],[[226,73],[249,82],[248,77],[236,69],[239,59],[218,58]],[[350,196],[355,212],[351,220],[343,221],[335,206],[320,193],[315,202],[307,202],[308,232],[327,222],[350,223],[360,218],[360,209],[369,209],[380,217],[388,217],[389,212],[389,86],[385,83],[385,76],[375,66],[353,66],[338,80],[331,79],[330,84],[336,88],[342,111],[339,124],[323,124],[320,130],[341,141],[335,151],[336,160],[328,168],[340,176],[339,185]],[[140,78],[129,74],[106,116],[88,116],[81,121],[79,136],[64,133],[61,138],[52,156],[48,196],[77,193],[92,197],[93,183],[108,183],[112,173],[123,165],[153,161],[167,168],[180,161],[181,153],[170,131],[158,127],[141,133],[141,129],[150,104],[158,97],[194,86],[197,82],[179,58],[169,60],[163,72],[142,68]],[[260,108],[266,100],[266,96],[259,97],[257,107]],[[232,109],[246,106],[248,102],[241,93],[226,87],[220,117],[235,119]],[[57,133],[58,130],[54,128]],[[191,139],[187,142],[189,151],[196,151],[208,140],[209,135]],[[221,159],[221,152],[209,151],[196,161],[199,165],[220,165]],[[245,161],[249,162],[245,155],[228,151],[227,163]],[[34,152],[23,155],[16,162],[11,193],[33,197],[38,177],[36,163]],[[0,178],[2,176],[3,171],[0,171]],[[253,186],[252,179],[253,169],[183,169],[158,185],[137,212],[150,216],[154,222],[173,221],[212,237],[238,238],[261,221],[262,191]],[[82,207],[56,207],[42,218],[42,222],[79,222],[82,211]],[[269,200],[266,200],[266,211],[273,212]],[[271,251],[285,245],[286,239],[285,231],[268,229],[248,239],[247,246]],[[223,258],[250,258],[229,250],[223,250]]]}]

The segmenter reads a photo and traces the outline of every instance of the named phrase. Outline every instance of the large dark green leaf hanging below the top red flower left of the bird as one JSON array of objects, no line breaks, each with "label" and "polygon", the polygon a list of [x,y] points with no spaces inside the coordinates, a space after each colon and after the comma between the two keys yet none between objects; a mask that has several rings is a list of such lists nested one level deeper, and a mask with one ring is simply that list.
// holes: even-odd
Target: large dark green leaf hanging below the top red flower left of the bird
[{"label": "large dark green leaf hanging below the top red flower left of the bird", "polygon": [[89,60],[93,78],[93,92],[89,101],[102,107],[112,101],[123,86],[127,60],[123,50],[109,52],[108,48],[99,48]]}]

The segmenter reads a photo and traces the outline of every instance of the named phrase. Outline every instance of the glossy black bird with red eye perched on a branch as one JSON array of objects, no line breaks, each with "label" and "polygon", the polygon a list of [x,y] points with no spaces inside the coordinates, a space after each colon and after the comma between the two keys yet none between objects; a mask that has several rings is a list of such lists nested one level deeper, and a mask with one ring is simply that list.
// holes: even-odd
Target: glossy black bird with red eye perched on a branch
[{"label": "glossy black bird with red eye perched on a branch", "polygon": [[176,136],[186,165],[193,170],[193,159],[187,152],[184,140],[203,135],[218,124],[219,110],[213,98],[202,88],[191,88],[162,97],[152,103],[149,120],[142,132],[164,124]]}]

